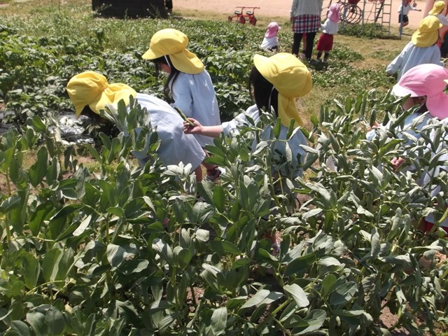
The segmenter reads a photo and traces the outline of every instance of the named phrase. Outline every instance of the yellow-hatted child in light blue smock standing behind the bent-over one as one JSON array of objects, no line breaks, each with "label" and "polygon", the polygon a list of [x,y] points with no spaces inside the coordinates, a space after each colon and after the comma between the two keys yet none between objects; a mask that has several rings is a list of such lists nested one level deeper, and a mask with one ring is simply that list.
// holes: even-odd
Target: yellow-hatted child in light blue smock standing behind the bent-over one
[{"label": "yellow-hatted child in light blue smock standing behind the bent-over one", "polygon": [[[183,32],[162,29],[151,37],[149,49],[142,58],[151,59],[157,71],[169,73],[165,82],[167,100],[173,99],[174,106],[203,125],[220,125],[218,100],[210,75],[201,60],[186,48],[187,45],[188,37]],[[202,147],[213,144],[211,137],[202,134],[194,137]],[[204,166],[207,178],[212,181],[221,174],[215,165]]]}]

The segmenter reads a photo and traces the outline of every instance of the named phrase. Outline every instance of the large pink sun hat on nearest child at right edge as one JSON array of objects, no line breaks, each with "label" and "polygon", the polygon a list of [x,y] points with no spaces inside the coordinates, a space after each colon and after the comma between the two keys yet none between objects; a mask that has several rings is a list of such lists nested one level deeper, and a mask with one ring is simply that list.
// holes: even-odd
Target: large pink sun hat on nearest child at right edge
[{"label": "large pink sun hat on nearest child at right edge", "polygon": [[448,97],[444,88],[448,83],[448,69],[437,64],[420,64],[409,69],[392,88],[398,97],[426,96],[426,107],[431,116],[440,120],[448,117]]}]

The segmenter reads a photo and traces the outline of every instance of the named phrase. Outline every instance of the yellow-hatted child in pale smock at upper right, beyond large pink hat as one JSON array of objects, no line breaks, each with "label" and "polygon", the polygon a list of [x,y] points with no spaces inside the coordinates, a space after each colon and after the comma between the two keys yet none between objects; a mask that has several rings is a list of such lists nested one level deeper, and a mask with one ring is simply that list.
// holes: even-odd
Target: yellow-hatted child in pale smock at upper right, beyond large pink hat
[{"label": "yellow-hatted child in pale smock at upper right, beyond large pink hat", "polygon": [[398,80],[409,69],[419,64],[438,64],[440,61],[440,48],[437,45],[440,21],[434,15],[428,15],[421,20],[419,29],[412,34],[411,41],[405,45],[400,55],[395,57],[387,66],[389,75],[398,73]]}]

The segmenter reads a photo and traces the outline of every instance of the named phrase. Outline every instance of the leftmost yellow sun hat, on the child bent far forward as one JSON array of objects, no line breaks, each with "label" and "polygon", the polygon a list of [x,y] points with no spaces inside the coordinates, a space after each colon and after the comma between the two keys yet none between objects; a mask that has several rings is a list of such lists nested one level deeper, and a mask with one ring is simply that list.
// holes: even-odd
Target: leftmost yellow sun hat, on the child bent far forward
[{"label": "leftmost yellow sun hat, on the child bent far forward", "polygon": [[127,105],[129,97],[137,95],[132,87],[121,83],[109,84],[106,77],[94,71],[85,71],[73,76],[66,90],[75,106],[76,118],[87,105],[94,113],[99,114],[99,110],[104,109],[107,104],[118,104],[123,99]]}]

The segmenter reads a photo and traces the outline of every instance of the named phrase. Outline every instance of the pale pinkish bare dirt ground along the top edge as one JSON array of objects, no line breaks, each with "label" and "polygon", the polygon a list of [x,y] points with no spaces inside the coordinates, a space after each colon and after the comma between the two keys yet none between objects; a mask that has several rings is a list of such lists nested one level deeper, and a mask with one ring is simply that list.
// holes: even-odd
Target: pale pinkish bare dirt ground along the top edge
[{"label": "pale pinkish bare dirt ground along the top edge", "polygon": [[[401,0],[392,1],[391,6],[391,25],[398,27],[398,7]],[[173,0],[174,10],[182,10],[182,8],[190,10],[207,10],[214,13],[220,13],[224,18],[232,14],[237,6],[257,6],[255,13],[266,18],[285,18],[288,20],[290,15],[290,6],[292,0]],[[335,0],[333,0],[335,2]],[[362,0],[359,5],[362,8]],[[330,0],[323,0],[323,8],[328,7]],[[417,7],[421,10],[425,9],[426,0],[416,0]],[[423,17],[423,12],[412,11],[409,13],[409,28],[419,27],[419,21]]]}]

